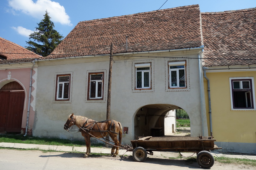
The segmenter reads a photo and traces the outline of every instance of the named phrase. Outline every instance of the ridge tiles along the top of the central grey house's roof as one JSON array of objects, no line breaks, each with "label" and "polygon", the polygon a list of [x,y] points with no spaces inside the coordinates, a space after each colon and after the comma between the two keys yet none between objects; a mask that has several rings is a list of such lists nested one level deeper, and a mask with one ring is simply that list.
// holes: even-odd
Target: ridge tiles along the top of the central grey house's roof
[{"label": "ridge tiles along the top of the central grey house's roof", "polygon": [[153,12],[156,12],[156,11],[168,11],[168,10],[187,8],[187,7],[196,7],[196,6],[199,7],[198,4],[196,4],[196,5],[188,5],[188,6],[182,6],[182,7],[174,7],[174,8],[155,10],[155,11],[141,12],[141,13],[136,13],[136,14],[122,15],[122,16],[112,16],[112,17],[109,17],[109,18],[101,18],[101,19],[94,19],[94,20],[88,20],[88,21],[80,21],[80,22],[78,22],[78,24],[79,23],[84,23],[84,22],[91,22],[91,21],[102,21],[102,20],[109,20],[109,19],[121,18],[121,17],[123,18],[123,17],[133,16],[133,15],[141,15],[141,14],[146,14],[146,13],[153,13]]}]

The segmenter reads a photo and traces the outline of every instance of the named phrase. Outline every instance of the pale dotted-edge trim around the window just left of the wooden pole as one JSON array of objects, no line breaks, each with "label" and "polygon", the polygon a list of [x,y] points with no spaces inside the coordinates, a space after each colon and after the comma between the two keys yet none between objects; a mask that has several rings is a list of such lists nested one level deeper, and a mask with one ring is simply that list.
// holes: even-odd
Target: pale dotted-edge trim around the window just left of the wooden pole
[{"label": "pale dotted-edge trim around the window just left of the wooden pole", "polygon": [[[89,99],[89,74],[93,73],[103,73],[103,91],[101,99]],[[85,103],[104,103],[106,102],[106,96],[107,96],[107,70],[87,70],[86,71],[86,85],[85,85]]]}]

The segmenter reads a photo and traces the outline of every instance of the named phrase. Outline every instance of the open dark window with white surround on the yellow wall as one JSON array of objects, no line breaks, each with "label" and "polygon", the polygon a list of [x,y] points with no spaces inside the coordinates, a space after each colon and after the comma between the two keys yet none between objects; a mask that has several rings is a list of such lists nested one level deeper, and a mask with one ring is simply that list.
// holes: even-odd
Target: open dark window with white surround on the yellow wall
[{"label": "open dark window with white surround on the yellow wall", "polygon": [[249,77],[229,78],[232,109],[254,109],[254,80]]}]

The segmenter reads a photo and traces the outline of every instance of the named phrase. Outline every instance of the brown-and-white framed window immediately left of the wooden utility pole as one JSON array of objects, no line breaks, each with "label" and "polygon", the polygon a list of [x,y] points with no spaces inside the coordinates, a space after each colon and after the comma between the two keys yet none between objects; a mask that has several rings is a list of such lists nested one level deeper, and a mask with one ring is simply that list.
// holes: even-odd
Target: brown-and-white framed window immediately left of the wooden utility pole
[{"label": "brown-and-white framed window immediately left of the wooden utility pole", "polygon": [[104,73],[89,73],[88,100],[103,99]]}]

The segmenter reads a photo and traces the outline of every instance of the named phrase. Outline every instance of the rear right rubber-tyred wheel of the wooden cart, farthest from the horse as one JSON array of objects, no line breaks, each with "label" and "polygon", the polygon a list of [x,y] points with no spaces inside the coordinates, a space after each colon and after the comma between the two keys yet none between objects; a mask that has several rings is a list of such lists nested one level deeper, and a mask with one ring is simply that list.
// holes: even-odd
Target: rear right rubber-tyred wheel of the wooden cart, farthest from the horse
[{"label": "rear right rubber-tyred wheel of the wooden cart, farthest from the horse", "polygon": [[205,150],[197,154],[196,161],[200,167],[207,169],[211,168],[214,164],[214,158],[212,154]]}]

